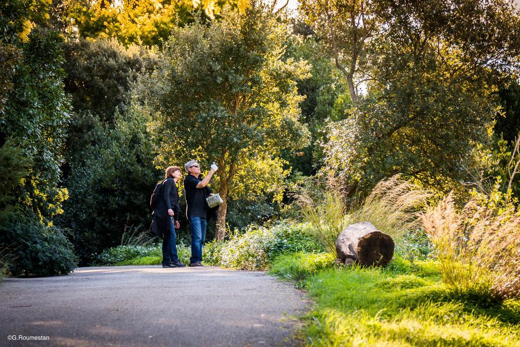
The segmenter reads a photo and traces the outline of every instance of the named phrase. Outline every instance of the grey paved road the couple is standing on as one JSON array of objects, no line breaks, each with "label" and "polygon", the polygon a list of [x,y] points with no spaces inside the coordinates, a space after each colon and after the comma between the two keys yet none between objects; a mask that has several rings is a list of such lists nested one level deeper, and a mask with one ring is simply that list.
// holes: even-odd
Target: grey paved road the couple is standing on
[{"label": "grey paved road the couple is standing on", "polygon": [[291,317],[307,308],[298,290],[265,273],[214,266],[81,267],[6,279],[0,298],[0,346],[294,345]]}]

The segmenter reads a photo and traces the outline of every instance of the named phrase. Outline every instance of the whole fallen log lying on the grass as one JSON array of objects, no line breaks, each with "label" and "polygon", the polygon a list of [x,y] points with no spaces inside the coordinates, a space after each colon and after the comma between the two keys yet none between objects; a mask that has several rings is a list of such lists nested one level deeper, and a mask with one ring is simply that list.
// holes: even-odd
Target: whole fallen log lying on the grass
[{"label": "whole fallen log lying on the grass", "polygon": [[350,224],[336,240],[337,257],[345,265],[359,262],[367,266],[384,266],[392,260],[394,248],[392,237],[369,222]]}]

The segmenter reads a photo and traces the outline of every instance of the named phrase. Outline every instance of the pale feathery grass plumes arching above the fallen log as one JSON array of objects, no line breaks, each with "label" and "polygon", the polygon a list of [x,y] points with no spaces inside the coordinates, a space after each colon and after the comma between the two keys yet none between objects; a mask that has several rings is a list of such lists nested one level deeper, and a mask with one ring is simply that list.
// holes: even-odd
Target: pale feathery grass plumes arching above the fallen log
[{"label": "pale feathery grass plumes arching above the fallen log", "polygon": [[400,239],[420,226],[417,212],[424,208],[431,193],[394,175],[379,182],[370,195],[349,210],[350,221],[370,222],[381,232]]}]

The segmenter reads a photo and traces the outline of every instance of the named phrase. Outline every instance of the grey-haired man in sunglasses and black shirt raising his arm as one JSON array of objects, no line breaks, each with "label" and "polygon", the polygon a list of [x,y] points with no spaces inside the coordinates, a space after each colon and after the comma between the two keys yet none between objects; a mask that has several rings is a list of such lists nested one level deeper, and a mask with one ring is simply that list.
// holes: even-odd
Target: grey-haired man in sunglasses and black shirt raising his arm
[{"label": "grey-haired man in sunglasses and black shirt raising his arm", "polygon": [[191,228],[191,257],[189,266],[202,266],[202,246],[206,238],[207,202],[204,187],[210,182],[217,165],[211,165],[210,173],[200,179],[200,165],[197,161],[188,161],[184,165],[188,175],[184,178],[186,197],[186,216]]}]

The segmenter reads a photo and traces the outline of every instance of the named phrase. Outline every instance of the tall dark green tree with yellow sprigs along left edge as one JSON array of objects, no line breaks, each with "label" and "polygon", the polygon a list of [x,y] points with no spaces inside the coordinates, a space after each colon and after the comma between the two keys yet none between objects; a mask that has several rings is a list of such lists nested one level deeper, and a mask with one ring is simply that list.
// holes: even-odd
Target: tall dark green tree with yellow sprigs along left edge
[{"label": "tall dark green tree with yellow sprigs along left edge", "polygon": [[[23,3],[2,4],[2,48],[8,60],[2,80],[0,145],[9,142],[32,161],[22,183],[19,202],[43,221],[61,213],[67,190],[59,187],[60,165],[70,118],[70,102],[63,91],[61,39],[53,32],[33,29],[23,42],[18,33],[39,9]],[[5,11],[5,12],[4,12]],[[32,22],[31,22],[32,23]],[[9,57],[11,57],[9,59]]]}]

